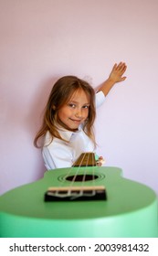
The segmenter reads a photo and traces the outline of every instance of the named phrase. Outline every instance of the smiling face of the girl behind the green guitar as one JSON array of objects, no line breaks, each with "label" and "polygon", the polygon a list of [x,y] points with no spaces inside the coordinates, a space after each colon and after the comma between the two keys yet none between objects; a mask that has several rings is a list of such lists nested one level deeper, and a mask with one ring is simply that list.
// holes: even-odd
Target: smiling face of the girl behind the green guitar
[{"label": "smiling face of the girl behind the green guitar", "polygon": [[68,103],[58,110],[58,118],[70,130],[78,129],[89,116],[90,99],[83,90],[75,91]]}]

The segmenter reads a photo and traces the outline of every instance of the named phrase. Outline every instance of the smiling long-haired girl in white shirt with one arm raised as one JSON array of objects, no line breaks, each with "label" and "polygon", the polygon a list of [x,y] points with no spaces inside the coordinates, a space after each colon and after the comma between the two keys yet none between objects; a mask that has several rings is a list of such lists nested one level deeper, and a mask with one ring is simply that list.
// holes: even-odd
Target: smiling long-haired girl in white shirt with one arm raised
[{"label": "smiling long-haired girl in white shirt with one arm raised", "polygon": [[[116,82],[125,80],[126,64],[115,64],[111,74],[95,93],[90,84],[75,76],[59,79],[50,92],[41,129],[34,144],[42,147],[47,170],[69,167],[84,152],[95,152],[93,123],[96,107],[105,101]],[[44,138],[42,145],[39,139]],[[102,157],[98,165],[101,165]]]}]

